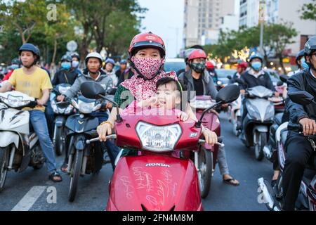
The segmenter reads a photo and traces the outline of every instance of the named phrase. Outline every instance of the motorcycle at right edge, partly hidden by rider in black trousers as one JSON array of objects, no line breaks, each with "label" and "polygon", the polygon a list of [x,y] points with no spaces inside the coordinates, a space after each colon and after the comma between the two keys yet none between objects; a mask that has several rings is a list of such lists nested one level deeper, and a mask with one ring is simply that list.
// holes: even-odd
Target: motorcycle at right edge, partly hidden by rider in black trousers
[{"label": "motorcycle at right edge, partly hidden by rider in black trousers", "polygon": [[[301,105],[309,105],[310,103],[316,104],[314,97],[306,91],[297,91],[296,93],[289,94],[291,101]],[[303,134],[302,134],[303,135]],[[261,195],[260,203],[264,203],[268,210],[279,211],[282,209],[283,201],[283,188],[282,176],[284,171],[284,164],[286,160],[286,149],[284,148],[285,140],[287,139],[287,123],[282,124],[277,129],[277,155],[279,160],[280,175],[277,179],[275,186],[268,184],[263,177],[258,179],[258,192]],[[306,137],[310,141],[312,148],[316,150],[313,139],[315,136]],[[305,167],[303,179],[301,181],[300,191],[296,200],[297,210],[310,210],[316,211],[316,156],[315,153],[310,158],[308,165]]]}]

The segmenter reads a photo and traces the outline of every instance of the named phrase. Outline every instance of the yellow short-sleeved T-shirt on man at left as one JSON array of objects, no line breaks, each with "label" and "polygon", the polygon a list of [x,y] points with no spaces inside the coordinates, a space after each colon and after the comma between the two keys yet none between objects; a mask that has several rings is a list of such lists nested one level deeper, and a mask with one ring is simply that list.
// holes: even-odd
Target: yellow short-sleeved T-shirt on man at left
[{"label": "yellow short-sleeved T-shirt on man at left", "polygon": [[[22,68],[14,70],[8,82],[15,87],[16,91],[20,91],[33,98],[41,98],[43,96],[43,90],[53,89],[48,73],[41,68],[36,68],[32,75],[26,75]],[[24,108],[24,110],[30,109],[31,108]],[[34,110],[44,111],[45,108],[37,106]]]}]

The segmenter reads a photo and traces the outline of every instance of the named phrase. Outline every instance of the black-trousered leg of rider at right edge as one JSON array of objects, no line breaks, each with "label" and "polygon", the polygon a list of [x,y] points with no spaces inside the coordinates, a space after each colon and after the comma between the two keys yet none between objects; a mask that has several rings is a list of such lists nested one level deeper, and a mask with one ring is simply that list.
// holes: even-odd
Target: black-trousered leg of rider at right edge
[{"label": "black-trousered leg of rider at right edge", "polygon": [[287,160],[285,161],[283,173],[283,210],[294,210],[305,165],[308,163],[313,150],[305,136],[293,131],[289,131],[285,146],[287,149]]}]

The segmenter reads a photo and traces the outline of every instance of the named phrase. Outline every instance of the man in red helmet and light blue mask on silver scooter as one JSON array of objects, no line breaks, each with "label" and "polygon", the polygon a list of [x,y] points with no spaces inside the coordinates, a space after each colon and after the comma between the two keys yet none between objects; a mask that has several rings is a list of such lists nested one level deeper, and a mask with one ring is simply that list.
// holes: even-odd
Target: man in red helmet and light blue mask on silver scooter
[{"label": "man in red helmet and light blue mask on silver scooter", "polygon": [[[258,54],[254,54],[249,58],[250,70],[244,72],[240,79],[243,80],[243,84],[239,84],[240,94],[245,94],[247,88],[251,88],[254,86],[265,86],[267,89],[274,91],[275,96],[279,96],[279,92],[275,89],[275,86],[272,83],[272,80],[267,72],[263,70],[263,58]],[[245,98],[242,101],[242,117],[238,121],[238,125],[236,129],[242,129],[242,122],[247,115],[247,110],[245,107]]]}]

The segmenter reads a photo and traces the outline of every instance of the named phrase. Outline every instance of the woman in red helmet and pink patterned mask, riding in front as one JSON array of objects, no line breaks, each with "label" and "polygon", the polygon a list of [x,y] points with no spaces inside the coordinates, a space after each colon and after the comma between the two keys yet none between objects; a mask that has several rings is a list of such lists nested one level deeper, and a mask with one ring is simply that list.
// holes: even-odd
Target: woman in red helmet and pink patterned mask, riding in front
[{"label": "woman in red helmet and pink patterned mask, riding in front", "polygon": [[[156,93],[157,81],[163,77],[171,77],[178,80],[176,72],[164,72],[164,61],[166,48],[161,37],[152,32],[136,35],[129,46],[129,60],[133,77],[122,82],[114,96],[114,101],[119,104],[121,113],[134,100],[136,101],[154,101],[152,98]],[[190,107],[187,108],[191,110]],[[188,112],[190,117],[195,117]],[[106,141],[105,136],[112,133],[114,121],[116,120],[117,110],[112,110],[109,120],[103,122],[97,131],[101,141]],[[196,119],[196,118],[194,118]],[[204,136],[209,143],[217,142],[217,136],[214,132],[204,130]]]}]

